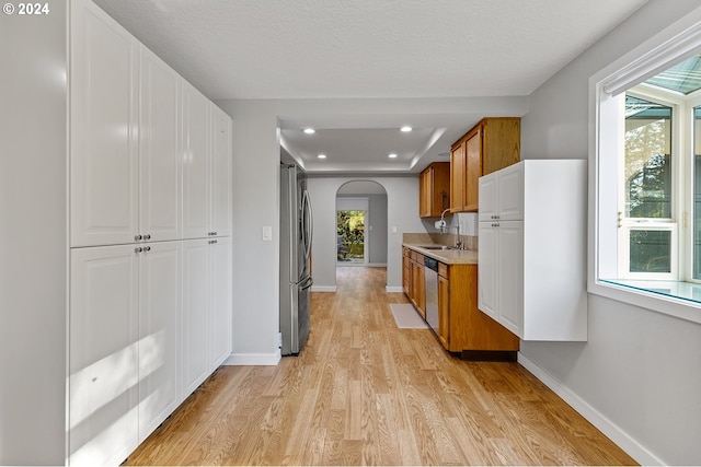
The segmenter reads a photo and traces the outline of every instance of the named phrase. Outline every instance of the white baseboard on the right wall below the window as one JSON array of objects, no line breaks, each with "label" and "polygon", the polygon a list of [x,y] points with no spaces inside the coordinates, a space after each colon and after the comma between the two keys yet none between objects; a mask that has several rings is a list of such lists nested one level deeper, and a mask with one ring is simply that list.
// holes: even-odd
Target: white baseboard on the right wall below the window
[{"label": "white baseboard on the right wall below the window", "polygon": [[591,407],[586,400],[575,394],[567,386],[552,377],[543,369],[538,366],[521,352],[518,352],[518,363],[526,370],[532,373],[538,380],[540,380],[545,386],[552,389],[562,400],[567,402],[570,407],[575,409],[582,417],[587,419],[593,425],[595,425],[601,433],[607,435],[612,442],[614,442],[621,450],[631,456],[635,462],[644,466],[666,465],[662,459],[651,453],[642,444],[635,441],[631,435],[623,431],[620,427],[609,420],[604,413]]}]

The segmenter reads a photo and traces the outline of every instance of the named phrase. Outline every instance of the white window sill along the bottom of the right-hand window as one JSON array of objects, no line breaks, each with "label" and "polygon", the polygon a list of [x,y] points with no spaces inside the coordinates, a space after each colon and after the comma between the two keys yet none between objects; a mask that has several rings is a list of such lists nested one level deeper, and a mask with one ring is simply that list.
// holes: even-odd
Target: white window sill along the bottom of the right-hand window
[{"label": "white window sill along the bottom of the right-hand window", "polygon": [[679,281],[600,279],[589,292],[701,324],[701,284]]}]

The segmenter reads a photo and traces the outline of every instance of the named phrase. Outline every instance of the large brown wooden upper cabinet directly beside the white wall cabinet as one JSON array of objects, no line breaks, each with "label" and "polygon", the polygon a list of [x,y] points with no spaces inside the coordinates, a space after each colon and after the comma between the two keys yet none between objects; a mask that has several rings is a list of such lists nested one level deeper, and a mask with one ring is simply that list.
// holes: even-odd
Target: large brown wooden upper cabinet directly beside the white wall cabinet
[{"label": "large brown wooden upper cabinet directly beside the white wall cabinet", "polygon": [[452,144],[450,210],[478,211],[482,175],[520,161],[519,117],[484,118]]}]

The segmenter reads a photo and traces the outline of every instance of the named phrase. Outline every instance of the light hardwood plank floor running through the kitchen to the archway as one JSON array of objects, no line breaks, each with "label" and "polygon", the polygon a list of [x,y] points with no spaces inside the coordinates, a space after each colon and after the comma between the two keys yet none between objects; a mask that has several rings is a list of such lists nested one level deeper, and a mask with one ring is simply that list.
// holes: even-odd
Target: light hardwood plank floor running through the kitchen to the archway
[{"label": "light hardwood plank floor running through the kitchen to the archway", "polygon": [[125,465],[634,465],[517,363],[398,329],[383,268],[341,267],[277,366],[222,366]]}]

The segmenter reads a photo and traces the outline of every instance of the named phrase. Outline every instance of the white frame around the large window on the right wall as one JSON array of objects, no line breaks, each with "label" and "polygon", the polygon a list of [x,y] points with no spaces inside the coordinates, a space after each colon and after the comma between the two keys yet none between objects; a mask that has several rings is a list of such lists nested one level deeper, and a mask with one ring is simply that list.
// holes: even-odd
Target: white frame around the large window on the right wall
[{"label": "white frame around the large window on the right wall", "polygon": [[[610,282],[607,278],[618,277],[619,168],[616,165],[619,163],[619,154],[622,150],[620,135],[623,133],[625,125],[624,119],[617,118],[620,115],[618,110],[620,95],[630,87],[669,68],[674,62],[700,50],[701,8],[698,8],[589,79],[589,260],[587,280],[587,290],[591,294],[699,324],[701,324],[701,303],[678,296],[660,295],[655,293],[652,287],[651,290],[633,289],[623,283]],[[691,122],[688,118],[687,121]],[[686,125],[683,121],[680,124]],[[674,138],[673,136],[673,140]],[[685,151],[683,148],[679,148],[679,150]],[[687,157],[679,159],[686,161]],[[676,172],[678,173],[678,171]],[[692,171],[686,171],[686,173],[690,172]],[[686,185],[685,191],[691,189],[690,183],[676,184],[677,192],[675,195],[690,197],[690,191],[678,192],[681,189],[680,185]],[[681,199],[677,197],[677,200]],[[676,212],[679,214],[679,208],[676,208]],[[685,229],[685,231],[689,232],[689,229]],[[687,245],[688,242],[691,242],[689,237],[692,235],[680,232],[678,241],[685,242]],[[611,260],[611,258],[616,259]],[[687,262],[685,260],[679,266],[681,268],[690,267]]]}]

